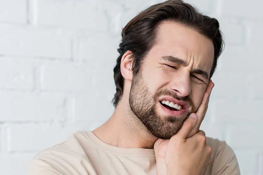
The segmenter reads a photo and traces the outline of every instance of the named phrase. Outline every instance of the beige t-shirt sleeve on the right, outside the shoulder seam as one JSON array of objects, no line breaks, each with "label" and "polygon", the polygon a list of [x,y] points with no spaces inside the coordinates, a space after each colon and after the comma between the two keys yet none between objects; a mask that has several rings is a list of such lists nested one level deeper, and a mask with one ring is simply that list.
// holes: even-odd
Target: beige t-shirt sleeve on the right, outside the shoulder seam
[{"label": "beige t-shirt sleeve on the right, outside the shoulder seam", "polygon": [[240,175],[238,161],[233,149],[222,142],[222,147],[217,153],[214,175]]}]

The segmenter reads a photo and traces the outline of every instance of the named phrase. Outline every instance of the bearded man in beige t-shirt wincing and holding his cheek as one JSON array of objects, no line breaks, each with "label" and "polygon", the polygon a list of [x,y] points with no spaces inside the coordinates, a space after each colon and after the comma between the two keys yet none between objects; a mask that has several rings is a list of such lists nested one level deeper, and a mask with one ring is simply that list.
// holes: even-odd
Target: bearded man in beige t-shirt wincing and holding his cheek
[{"label": "bearded man in beige t-shirt wincing and holding his cheek", "polygon": [[218,21],[183,1],[142,11],[122,30],[113,115],[40,152],[26,174],[240,174],[233,150],[199,130],[222,45]]}]

